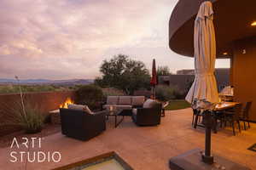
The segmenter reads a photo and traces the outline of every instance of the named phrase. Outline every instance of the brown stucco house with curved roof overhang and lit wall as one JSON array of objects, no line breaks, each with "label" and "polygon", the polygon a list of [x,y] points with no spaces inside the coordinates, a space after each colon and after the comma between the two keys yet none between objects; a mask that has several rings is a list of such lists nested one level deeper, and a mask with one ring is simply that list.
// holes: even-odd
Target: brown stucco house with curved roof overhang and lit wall
[{"label": "brown stucco house with curved roof overhang and lit wall", "polygon": [[[179,0],[169,21],[169,47],[193,57],[194,21],[205,0]],[[230,85],[242,103],[253,101],[250,120],[256,122],[256,1],[210,0],[214,11],[217,58],[230,59]]]}]

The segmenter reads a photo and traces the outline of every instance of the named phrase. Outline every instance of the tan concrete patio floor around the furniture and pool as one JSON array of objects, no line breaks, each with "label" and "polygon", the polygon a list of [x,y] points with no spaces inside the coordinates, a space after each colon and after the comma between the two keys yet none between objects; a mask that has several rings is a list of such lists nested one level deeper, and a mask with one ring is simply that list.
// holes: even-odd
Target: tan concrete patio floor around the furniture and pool
[{"label": "tan concrete patio floor around the furniture and pool", "polygon": [[[169,169],[168,160],[172,156],[182,154],[187,150],[204,148],[204,129],[191,127],[192,111],[190,109],[166,111],[157,127],[137,127],[131,122],[131,117],[125,117],[119,127],[113,127],[113,117],[108,120],[107,131],[89,141],[79,141],[63,136],[61,133],[44,137],[42,147],[27,149],[0,149],[0,169],[52,169],[73,162],[115,151],[134,169],[156,170]],[[242,123],[241,123],[242,124]],[[232,131],[220,129],[212,134],[213,155],[224,156],[252,169],[256,169],[256,152],[247,150],[256,143],[256,125],[247,131],[232,135]],[[61,152],[61,161],[49,162],[10,162],[10,151]]]}]

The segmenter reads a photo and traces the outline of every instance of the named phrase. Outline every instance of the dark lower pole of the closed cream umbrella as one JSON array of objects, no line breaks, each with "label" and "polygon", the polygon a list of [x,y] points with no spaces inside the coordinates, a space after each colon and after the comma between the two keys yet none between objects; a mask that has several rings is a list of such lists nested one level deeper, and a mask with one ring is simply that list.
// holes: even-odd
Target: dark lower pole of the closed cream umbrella
[{"label": "dark lower pole of the closed cream umbrella", "polygon": [[205,153],[201,155],[202,161],[207,164],[213,163],[213,156],[211,155],[211,137],[212,137],[212,116],[211,111],[205,111],[205,127],[206,127],[206,140],[205,140]]}]

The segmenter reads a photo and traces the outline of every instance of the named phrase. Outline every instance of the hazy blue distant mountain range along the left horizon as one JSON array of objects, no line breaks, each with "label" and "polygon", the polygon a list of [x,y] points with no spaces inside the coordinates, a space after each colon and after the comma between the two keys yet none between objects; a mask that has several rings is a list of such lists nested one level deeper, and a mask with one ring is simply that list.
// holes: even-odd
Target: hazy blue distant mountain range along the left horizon
[{"label": "hazy blue distant mountain range along the left horizon", "polygon": [[[20,84],[54,84],[54,85],[76,85],[90,84],[94,82],[91,79],[68,79],[68,80],[48,80],[48,79],[24,79]],[[17,84],[15,79],[0,78],[0,84]]]}]

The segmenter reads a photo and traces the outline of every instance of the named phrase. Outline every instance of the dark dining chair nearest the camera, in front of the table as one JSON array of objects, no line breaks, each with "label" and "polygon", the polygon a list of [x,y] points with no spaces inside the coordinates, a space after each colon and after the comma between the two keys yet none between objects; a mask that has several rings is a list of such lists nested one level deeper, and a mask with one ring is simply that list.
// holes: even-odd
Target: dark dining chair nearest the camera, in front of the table
[{"label": "dark dining chair nearest the camera, in front of the table", "polygon": [[235,131],[235,122],[238,124],[239,132],[241,133],[241,127],[240,127],[240,116],[241,116],[241,104],[236,104],[234,111],[224,111],[224,122],[230,122],[232,128],[233,128],[233,134],[236,135]]}]

